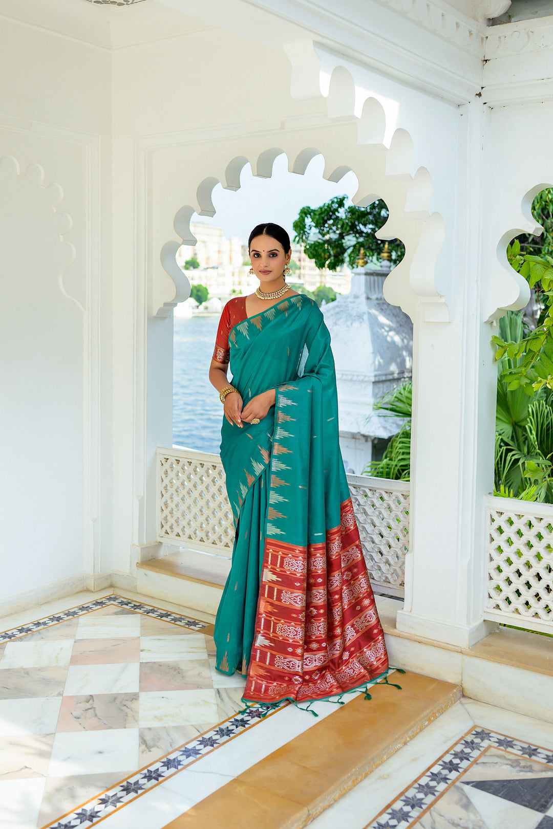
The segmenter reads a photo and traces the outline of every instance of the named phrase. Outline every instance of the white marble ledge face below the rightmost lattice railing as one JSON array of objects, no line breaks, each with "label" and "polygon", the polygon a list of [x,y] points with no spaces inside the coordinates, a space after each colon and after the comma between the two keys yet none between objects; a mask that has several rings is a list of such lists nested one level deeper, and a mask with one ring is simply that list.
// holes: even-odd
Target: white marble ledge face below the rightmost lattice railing
[{"label": "white marble ledge face below the rightmost lattice railing", "polygon": [[463,657],[463,693],[473,700],[553,723],[553,676]]}]

